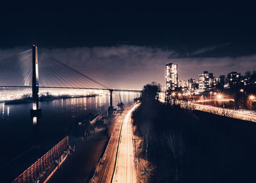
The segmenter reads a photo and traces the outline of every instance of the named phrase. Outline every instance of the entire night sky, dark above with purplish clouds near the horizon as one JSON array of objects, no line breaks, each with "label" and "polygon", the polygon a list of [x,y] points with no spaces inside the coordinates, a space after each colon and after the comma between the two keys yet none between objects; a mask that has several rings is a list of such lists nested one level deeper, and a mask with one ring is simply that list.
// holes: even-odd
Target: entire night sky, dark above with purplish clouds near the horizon
[{"label": "entire night sky, dark above with purplish clouds near the horizon", "polygon": [[36,43],[42,51],[114,88],[164,83],[164,66],[179,79],[256,70],[253,4],[1,4],[0,58]]}]

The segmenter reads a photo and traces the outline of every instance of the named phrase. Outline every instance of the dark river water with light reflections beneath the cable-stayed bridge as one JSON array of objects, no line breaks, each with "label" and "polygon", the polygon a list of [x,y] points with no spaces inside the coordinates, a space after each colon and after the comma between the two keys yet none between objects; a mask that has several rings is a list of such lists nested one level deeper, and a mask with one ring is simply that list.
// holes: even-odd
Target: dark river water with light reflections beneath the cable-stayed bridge
[{"label": "dark river water with light reflections beneath the cable-stayed bridge", "polygon": [[[138,93],[124,92],[120,94],[125,107],[132,104],[133,99],[138,97]],[[116,104],[119,100],[118,93],[114,92],[114,107],[117,107]],[[109,96],[40,102],[42,117],[36,124],[33,124],[29,114],[31,106],[31,103],[0,104],[0,182],[10,182],[15,179],[66,135],[70,135],[71,141],[77,142],[79,137],[74,134],[77,120],[89,113],[101,112],[105,116],[105,112],[108,111]],[[94,150],[100,150],[90,147],[102,146],[104,141],[106,141],[106,136],[103,132],[96,132],[91,139],[88,139],[87,143],[83,143],[79,147],[81,150],[86,150],[87,155],[90,155]],[[93,162],[97,158],[95,157]],[[86,167],[86,164],[83,166]]]}]

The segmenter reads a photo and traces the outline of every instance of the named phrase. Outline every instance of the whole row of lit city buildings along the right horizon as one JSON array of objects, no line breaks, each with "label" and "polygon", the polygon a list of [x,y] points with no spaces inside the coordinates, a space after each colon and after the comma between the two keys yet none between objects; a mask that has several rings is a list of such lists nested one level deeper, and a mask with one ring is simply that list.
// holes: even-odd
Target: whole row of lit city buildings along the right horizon
[{"label": "whole row of lit city buildings along the right horizon", "polygon": [[[212,93],[212,91],[221,91],[228,88],[241,90],[246,87],[256,86],[256,70],[246,71],[244,75],[232,71],[227,75],[214,76],[213,73],[204,70],[200,72],[197,78],[187,80],[179,79],[179,66],[177,63],[168,63],[165,65],[165,83],[161,86],[161,91],[170,95],[172,92],[178,92],[180,95],[198,95],[200,93]],[[173,94],[174,95],[174,94]]]}]

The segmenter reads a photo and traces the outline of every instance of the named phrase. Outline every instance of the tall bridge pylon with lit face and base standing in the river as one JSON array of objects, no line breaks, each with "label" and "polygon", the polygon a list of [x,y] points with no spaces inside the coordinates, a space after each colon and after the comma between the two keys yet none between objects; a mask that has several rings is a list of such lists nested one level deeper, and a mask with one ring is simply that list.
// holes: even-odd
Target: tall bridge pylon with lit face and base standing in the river
[{"label": "tall bridge pylon with lit face and base standing in the river", "polygon": [[41,109],[38,107],[38,56],[37,56],[37,46],[33,44],[32,48],[32,96],[33,96],[33,106],[30,110],[31,117],[38,117],[41,115]]}]

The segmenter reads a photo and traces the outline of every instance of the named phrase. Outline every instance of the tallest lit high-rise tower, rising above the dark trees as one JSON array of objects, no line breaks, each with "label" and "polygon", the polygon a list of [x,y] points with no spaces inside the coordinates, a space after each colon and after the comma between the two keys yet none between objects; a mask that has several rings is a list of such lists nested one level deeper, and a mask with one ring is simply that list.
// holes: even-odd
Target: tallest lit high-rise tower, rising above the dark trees
[{"label": "tallest lit high-rise tower, rising above the dark trees", "polygon": [[165,67],[166,90],[176,90],[178,88],[178,65],[174,63],[166,64]]}]

